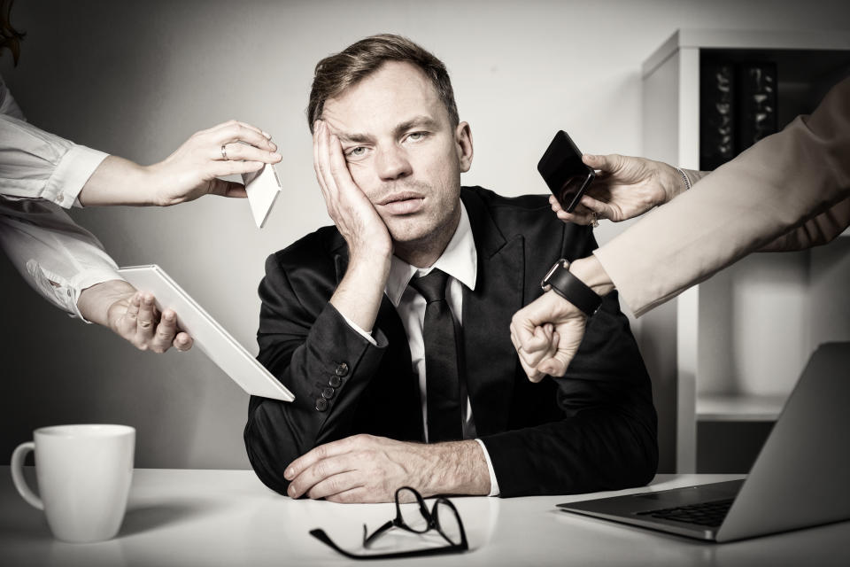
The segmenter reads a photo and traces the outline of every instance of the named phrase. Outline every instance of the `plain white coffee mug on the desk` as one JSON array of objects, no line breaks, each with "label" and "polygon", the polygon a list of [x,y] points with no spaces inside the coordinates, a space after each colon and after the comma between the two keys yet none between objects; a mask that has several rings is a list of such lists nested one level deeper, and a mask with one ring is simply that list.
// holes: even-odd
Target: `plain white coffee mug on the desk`
[{"label": "plain white coffee mug on the desk", "polygon": [[[42,427],[12,453],[12,481],[24,500],[44,510],[58,540],[110,540],[127,508],[134,449],[135,429],[127,425]],[[41,497],[23,475],[24,457],[34,450]]]}]

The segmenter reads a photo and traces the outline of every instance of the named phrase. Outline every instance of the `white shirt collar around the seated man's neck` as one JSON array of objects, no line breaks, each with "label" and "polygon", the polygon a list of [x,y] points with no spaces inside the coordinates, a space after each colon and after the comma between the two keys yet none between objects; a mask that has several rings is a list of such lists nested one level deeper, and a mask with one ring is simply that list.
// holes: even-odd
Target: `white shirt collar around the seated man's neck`
[{"label": "white shirt collar around the seated man's neck", "polygon": [[469,224],[467,208],[460,202],[460,222],[455,229],[452,240],[445,250],[430,268],[416,268],[397,256],[390,259],[390,276],[387,277],[387,286],[384,291],[392,302],[398,307],[401,296],[407,289],[407,283],[413,276],[425,276],[432,269],[440,268],[449,276],[466,285],[470,290],[475,290],[475,276],[478,274],[478,253],[475,250],[475,238],[472,236],[472,227]]}]

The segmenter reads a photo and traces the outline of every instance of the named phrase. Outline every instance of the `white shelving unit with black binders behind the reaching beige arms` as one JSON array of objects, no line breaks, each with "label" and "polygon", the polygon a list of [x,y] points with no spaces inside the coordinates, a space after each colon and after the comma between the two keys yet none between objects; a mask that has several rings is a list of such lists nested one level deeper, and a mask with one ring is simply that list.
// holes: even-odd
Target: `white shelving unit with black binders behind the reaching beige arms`
[{"label": "white shelving unit with black binders behind the reaching beige arms", "polygon": [[[850,74],[850,32],[677,31],[643,66],[646,157],[699,169],[704,54],[775,61],[781,128]],[[656,405],[673,406],[658,410],[660,429],[676,431],[676,472],[696,472],[699,421],[776,419],[815,346],[850,340],[848,251],[838,238],[823,251],[754,254],[645,315],[642,332],[658,330],[641,340],[653,383],[675,390]]]}]

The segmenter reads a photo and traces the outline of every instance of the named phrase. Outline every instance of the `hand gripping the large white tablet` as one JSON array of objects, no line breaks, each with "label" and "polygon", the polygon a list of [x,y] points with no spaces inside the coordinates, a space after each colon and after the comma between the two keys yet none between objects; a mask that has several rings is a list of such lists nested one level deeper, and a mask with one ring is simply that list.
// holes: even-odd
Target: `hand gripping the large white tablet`
[{"label": "hand gripping the large white tablet", "polygon": [[123,280],[97,283],[81,291],[77,300],[82,316],[108,327],[142,351],[165,353],[171,346],[188,351],[192,338],[177,328],[177,315],[161,315],[151,293],[136,291]]}]

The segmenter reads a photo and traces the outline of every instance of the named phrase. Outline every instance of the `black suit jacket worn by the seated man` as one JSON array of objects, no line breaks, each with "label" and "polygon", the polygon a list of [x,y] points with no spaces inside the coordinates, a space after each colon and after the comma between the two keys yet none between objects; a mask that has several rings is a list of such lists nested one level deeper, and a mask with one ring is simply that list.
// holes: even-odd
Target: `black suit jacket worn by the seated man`
[{"label": "black suit jacket worn by the seated man", "polygon": [[[652,391],[616,293],[591,317],[562,378],[532,384],[510,341],[511,317],[542,293],[554,260],[596,247],[591,229],[559,221],[545,196],[463,188],[478,253],[464,288],[464,375],[479,439],[502,496],[643,485],[658,462]],[[400,318],[384,296],[373,346],[328,303],[347,246],[335,227],[274,253],[259,285],[259,361],[295,394],[252,397],[244,439],[259,478],[285,493],[287,464],[356,433],[423,439],[418,378]]]}]

